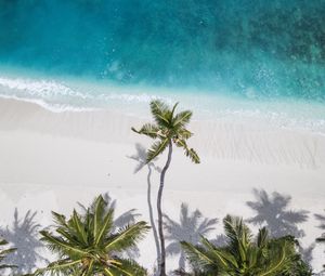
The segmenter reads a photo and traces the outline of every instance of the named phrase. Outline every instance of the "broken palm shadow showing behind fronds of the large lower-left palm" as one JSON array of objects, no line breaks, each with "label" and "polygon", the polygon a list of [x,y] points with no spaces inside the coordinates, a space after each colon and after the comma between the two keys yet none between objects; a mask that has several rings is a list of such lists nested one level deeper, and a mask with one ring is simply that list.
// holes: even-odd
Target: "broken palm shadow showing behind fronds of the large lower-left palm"
[{"label": "broken palm shadow showing behind fronds of the large lower-left palm", "polygon": [[[112,199],[108,193],[102,195],[103,199],[107,202],[106,209],[113,209],[116,210],[116,199]],[[78,206],[83,210],[83,212],[87,212],[87,208],[80,203],[77,202]],[[91,207],[91,209],[94,209],[94,206]],[[136,213],[136,209],[130,209],[129,211],[126,211],[121,213],[119,216],[115,218],[114,225],[113,225],[113,233],[118,232],[120,228],[125,228],[126,226],[130,224],[134,224],[136,222],[136,218],[141,216],[140,213]],[[140,250],[136,246],[127,249],[126,252],[122,254],[122,257],[130,258],[130,259],[136,259],[140,257]]]}]

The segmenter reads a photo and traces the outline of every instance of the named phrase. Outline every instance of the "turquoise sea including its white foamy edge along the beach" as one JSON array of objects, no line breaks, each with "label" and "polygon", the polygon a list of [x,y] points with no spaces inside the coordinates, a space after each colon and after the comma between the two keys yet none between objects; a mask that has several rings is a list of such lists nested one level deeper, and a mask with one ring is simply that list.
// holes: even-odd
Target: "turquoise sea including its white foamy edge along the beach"
[{"label": "turquoise sea including its white foamy edge along the beach", "polygon": [[0,93],[83,106],[194,96],[207,111],[318,123],[324,14],[324,0],[0,0]]}]

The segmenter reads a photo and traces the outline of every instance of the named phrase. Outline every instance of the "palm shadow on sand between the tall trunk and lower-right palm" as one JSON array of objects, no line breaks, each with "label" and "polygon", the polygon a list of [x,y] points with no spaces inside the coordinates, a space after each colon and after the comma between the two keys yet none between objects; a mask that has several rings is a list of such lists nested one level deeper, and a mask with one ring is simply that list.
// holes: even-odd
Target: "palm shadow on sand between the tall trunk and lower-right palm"
[{"label": "palm shadow on sand between the tall trunk and lower-right palm", "polygon": [[167,255],[180,255],[179,270],[185,270],[186,259],[180,241],[199,244],[202,236],[206,236],[214,229],[218,219],[204,218],[198,209],[190,213],[186,203],[181,205],[180,222],[171,220],[167,214],[164,214],[164,227],[167,232],[166,239],[170,241],[166,248],[166,253]]}]

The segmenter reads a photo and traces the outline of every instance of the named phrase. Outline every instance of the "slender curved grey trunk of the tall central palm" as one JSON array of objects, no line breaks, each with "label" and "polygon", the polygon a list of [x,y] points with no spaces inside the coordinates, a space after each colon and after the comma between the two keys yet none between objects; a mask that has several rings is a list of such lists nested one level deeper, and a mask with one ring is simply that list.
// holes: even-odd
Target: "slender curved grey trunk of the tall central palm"
[{"label": "slender curved grey trunk of the tall central palm", "polygon": [[162,190],[164,190],[164,183],[165,183],[165,174],[169,168],[171,161],[171,154],[172,154],[172,143],[169,141],[168,145],[168,158],[166,165],[160,173],[160,186],[158,190],[157,197],[157,210],[158,210],[158,232],[159,232],[159,239],[160,239],[160,276],[166,276],[166,250],[165,250],[165,237],[164,237],[164,229],[162,229],[162,211],[161,211],[161,198],[162,198]]}]

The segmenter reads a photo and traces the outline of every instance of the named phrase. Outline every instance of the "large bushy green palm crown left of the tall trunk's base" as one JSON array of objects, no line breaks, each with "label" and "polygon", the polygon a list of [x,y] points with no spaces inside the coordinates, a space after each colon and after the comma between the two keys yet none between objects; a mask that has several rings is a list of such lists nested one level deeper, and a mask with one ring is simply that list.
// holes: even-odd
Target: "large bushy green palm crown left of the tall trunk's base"
[{"label": "large bushy green palm crown left of the tall trunk's base", "polygon": [[99,196],[84,215],[74,210],[69,220],[63,214],[52,212],[55,232],[41,231],[42,241],[57,253],[60,260],[34,275],[67,274],[80,276],[133,276],[146,275],[146,271],[130,259],[118,253],[133,247],[148,231],[145,222],[113,232],[114,209]]}]

